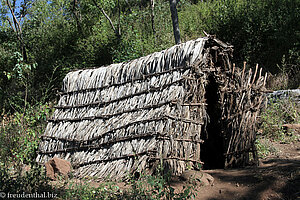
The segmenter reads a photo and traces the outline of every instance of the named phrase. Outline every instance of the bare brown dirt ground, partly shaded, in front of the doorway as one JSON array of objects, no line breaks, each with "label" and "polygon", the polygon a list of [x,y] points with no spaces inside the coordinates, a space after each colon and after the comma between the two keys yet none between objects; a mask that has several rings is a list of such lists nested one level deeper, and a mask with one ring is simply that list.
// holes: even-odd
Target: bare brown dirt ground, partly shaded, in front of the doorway
[{"label": "bare brown dirt ground, partly shaded, in front of the doorway", "polygon": [[261,159],[259,167],[204,170],[214,177],[214,184],[197,188],[196,199],[300,200],[300,142],[273,145],[276,155]]}]

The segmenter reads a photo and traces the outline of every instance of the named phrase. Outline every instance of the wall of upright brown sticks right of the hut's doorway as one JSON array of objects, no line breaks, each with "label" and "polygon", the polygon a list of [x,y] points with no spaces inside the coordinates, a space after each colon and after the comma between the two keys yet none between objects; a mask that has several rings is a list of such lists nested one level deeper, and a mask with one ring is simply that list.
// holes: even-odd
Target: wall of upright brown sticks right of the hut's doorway
[{"label": "wall of upright brown sticks right of the hut's doorway", "polygon": [[262,75],[262,68],[245,72],[230,68],[232,76],[224,77],[220,90],[222,104],[222,124],[226,130],[225,167],[245,166],[249,162],[249,152],[257,162],[255,139],[257,132],[257,118],[265,101],[264,92],[267,74]]}]

